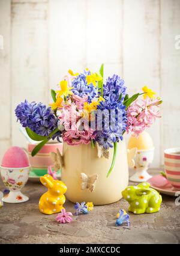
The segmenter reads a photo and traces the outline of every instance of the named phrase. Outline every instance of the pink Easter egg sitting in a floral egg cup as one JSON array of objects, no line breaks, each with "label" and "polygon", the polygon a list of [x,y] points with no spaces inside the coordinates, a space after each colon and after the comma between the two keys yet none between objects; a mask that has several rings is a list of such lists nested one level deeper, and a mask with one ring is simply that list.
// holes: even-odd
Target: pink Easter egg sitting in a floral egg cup
[{"label": "pink Easter egg sitting in a floral egg cup", "polygon": [[29,166],[28,156],[20,147],[10,147],[2,157],[1,166],[7,168],[22,168]]}]

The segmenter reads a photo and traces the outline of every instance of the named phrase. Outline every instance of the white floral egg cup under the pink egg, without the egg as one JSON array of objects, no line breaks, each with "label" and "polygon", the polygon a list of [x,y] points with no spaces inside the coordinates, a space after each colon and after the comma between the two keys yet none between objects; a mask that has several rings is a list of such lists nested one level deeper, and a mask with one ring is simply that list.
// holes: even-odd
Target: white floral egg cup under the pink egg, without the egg
[{"label": "white floral egg cup under the pink egg, without the egg", "polygon": [[10,192],[2,198],[5,203],[24,203],[29,200],[20,190],[25,186],[29,178],[31,167],[7,168],[1,166],[1,178]]}]

